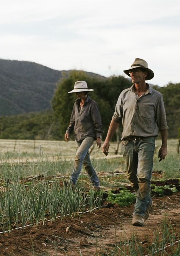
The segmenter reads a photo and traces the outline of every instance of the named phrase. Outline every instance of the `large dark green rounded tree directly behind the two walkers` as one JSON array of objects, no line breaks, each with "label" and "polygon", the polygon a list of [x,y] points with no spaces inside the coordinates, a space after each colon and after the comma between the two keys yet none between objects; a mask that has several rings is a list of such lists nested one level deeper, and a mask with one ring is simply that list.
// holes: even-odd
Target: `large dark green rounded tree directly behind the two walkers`
[{"label": "large dark green rounded tree directly behind the two walkers", "polygon": [[85,80],[88,88],[94,89],[93,92],[90,92],[90,98],[95,100],[99,106],[103,123],[103,137],[105,137],[118,96],[123,89],[131,86],[131,82],[122,76],[110,78],[91,77],[83,71],[76,70],[73,70],[68,77],[63,77],[57,84],[57,90],[52,99],[52,108],[58,118],[60,138],[63,137],[66,131],[74,100],[76,99],[76,94],[68,93],[68,91],[73,90],[74,83],[78,80]]}]

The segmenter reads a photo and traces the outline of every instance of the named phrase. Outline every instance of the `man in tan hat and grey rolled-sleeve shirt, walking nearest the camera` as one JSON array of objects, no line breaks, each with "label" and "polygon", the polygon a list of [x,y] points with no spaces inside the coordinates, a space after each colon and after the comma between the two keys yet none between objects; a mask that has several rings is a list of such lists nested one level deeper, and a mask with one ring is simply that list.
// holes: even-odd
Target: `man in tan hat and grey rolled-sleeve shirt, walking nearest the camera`
[{"label": "man in tan hat and grey rolled-sleeve shirt, walking nearest the camera", "polygon": [[136,58],[131,67],[124,70],[131,77],[133,86],[120,94],[107,137],[103,144],[103,153],[108,154],[109,141],[118,125],[122,122],[122,150],[126,162],[127,177],[136,191],[133,225],[143,226],[152,208],[150,180],[152,176],[155,137],[158,129],[162,145],[159,149],[159,161],[167,155],[167,123],[163,96],[152,89],[145,80],[154,77],[148,64]]}]

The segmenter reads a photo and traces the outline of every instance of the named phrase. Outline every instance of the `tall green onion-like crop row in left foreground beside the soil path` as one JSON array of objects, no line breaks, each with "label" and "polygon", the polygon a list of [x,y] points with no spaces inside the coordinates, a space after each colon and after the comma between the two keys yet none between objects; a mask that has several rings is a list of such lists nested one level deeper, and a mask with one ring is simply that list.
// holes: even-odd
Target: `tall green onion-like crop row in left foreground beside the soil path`
[{"label": "tall green onion-like crop row in left foreground beside the soil path", "polygon": [[84,193],[77,186],[63,186],[57,181],[33,182],[28,186],[20,181],[7,182],[0,191],[0,229],[10,231],[14,226],[38,225],[40,221],[64,218],[100,206],[102,193]]}]

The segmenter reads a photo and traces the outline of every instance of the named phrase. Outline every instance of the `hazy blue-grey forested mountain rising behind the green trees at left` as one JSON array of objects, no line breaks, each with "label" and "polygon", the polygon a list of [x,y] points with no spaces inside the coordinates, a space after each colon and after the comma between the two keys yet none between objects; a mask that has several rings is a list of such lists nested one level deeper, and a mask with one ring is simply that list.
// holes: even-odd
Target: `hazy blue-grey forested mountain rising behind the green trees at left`
[{"label": "hazy blue-grey forested mountain rising behind the green trees at left", "polygon": [[51,109],[56,83],[70,71],[53,70],[34,62],[0,59],[0,116]]}]

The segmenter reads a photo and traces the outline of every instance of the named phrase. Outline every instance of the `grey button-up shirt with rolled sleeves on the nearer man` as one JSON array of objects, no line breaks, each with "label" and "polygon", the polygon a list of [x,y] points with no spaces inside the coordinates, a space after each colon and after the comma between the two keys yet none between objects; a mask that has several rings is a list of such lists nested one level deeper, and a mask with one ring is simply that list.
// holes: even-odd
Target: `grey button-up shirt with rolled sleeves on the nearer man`
[{"label": "grey button-up shirt with rolled sleeves on the nearer man", "polygon": [[122,139],[128,136],[157,136],[158,129],[168,129],[163,96],[149,85],[141,97],[136,94],[134,85],[123,90],[112,119],[122,122]]}]

